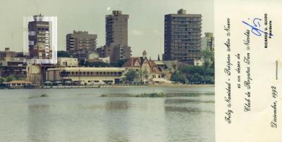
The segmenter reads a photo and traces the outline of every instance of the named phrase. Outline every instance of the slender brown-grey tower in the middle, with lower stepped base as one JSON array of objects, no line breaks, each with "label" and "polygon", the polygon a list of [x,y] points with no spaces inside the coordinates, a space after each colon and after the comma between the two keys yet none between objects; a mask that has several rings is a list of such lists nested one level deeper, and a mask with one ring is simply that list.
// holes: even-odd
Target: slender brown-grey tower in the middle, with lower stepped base
[{"label": "slender brown-grey tower in the middle, with lower stepped base", "polygon": [[111,62],[131,57],[128,46],[128,18],[122,11],[106,15],[106,45],[97,49],[101,57],[110,57]]}]

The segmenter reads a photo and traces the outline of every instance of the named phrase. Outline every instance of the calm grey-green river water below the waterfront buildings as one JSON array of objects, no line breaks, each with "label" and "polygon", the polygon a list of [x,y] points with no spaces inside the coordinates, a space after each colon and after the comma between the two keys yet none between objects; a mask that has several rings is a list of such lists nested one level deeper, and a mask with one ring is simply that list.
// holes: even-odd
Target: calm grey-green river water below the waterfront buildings
[{"label": "calm grey-green river water below the waterfront buildings", "polygon": [[[151,92],[186,96],[99,97]],[[214,142],[212,87],[0,90],[0,106],[5,142]]]}]

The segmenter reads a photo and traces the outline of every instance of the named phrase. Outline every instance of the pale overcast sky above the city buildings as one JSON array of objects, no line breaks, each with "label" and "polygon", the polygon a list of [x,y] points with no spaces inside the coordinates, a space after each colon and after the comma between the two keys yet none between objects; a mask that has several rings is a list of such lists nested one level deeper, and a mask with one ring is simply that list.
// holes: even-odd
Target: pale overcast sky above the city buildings
[{"label": "pale overcast sky above the city buildings", "polygon": [[[0,0],[0,50],[23,51],[23,17],[42,13],[58,18],[58,48],[66,50],[66,34],[73,30],[98,35],[105,44],[105,15],[113,10],[129,15],[128,45],[133,56],[157,59],[164,53],[164,15],[184,8],[202,14],[202,33],[214,32],[213,0]],[[13,39],[13,40],[12,40]]]}]

